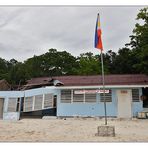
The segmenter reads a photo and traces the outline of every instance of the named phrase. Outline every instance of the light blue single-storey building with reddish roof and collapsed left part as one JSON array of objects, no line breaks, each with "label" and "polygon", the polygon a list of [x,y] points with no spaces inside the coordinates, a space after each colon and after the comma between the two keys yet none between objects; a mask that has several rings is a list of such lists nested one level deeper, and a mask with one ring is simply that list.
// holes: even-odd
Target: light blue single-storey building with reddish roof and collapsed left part
[{"label": "light blue single-storey building with reddish roof and collapsed left part", "polygon": [[[105,75],[105,100],[108,117],[148,112],[148,76]],[[20,91],[0,91],[0,118],[25,116],[103,117],[102,76],[33,78]]]}]

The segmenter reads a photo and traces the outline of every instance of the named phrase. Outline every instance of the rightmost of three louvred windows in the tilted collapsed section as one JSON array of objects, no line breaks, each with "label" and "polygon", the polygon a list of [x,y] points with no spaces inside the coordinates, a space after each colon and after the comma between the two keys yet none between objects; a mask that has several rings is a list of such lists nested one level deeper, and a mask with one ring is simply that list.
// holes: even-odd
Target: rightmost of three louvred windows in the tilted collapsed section
[{"label": "rightmost of three louvred windows in the tilted collapsed section", "polygon": [[53,106],[53,94],[45,94],[44,98],[44,108]]}]

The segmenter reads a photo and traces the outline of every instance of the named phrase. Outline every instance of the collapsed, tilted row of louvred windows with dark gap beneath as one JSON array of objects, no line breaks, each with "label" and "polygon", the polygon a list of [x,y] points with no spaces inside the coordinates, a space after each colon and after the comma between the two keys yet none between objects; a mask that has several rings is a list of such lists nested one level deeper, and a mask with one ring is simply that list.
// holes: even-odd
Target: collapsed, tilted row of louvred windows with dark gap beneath
[{"label": "collapsed, tilted row of louvred windows with dark gap beneath", "polygon": [[57,96],[53,94],[22,98],[21,118],[42,118],[56,116]]}]

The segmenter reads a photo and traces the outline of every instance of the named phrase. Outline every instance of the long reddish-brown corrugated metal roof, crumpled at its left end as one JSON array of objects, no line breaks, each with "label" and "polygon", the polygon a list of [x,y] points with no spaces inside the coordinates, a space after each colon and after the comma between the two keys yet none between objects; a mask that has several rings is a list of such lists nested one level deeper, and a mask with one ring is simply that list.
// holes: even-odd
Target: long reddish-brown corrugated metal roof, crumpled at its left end
[{"label": "long reddish-brown corrugated metal roof, crumpled at its left end", "polygon": [[[27,85],[49,84],[53,79],[59,80],[64,86],[102,85],[101,75],[32,78],[28,80]],[[105,75],[105,85],[148,85],[148,76],[144,74]]]}]

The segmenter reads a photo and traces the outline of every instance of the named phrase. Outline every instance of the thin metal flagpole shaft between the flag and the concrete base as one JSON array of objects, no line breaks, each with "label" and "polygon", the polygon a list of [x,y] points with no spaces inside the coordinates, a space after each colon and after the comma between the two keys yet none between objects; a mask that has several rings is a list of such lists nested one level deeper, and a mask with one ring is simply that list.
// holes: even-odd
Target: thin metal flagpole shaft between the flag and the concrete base
[{"label": "thin metal flagpole shaft between the flag and the concrete base", "polygon": [[103,98],[104,98],[105,125],[107,125],[106,98],[105,98],[105,82],[104,82],[104,64],[103,64],[103,54],[102,54],[102,50],[101,50],[101,64],[102,64],[102,84],[103,84]]}]

